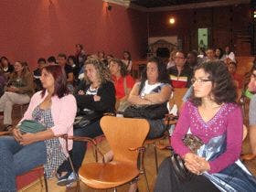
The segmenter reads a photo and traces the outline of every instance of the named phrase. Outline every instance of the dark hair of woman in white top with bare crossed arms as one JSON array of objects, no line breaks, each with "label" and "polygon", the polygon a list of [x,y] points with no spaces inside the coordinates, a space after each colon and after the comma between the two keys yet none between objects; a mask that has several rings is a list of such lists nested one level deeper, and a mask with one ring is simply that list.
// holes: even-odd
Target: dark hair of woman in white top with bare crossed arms
[{"label": "dark hair of woman in white top with bare crossed arms", "polygon": [[[158,57],[152,57],[147,60],[147,63],[154,62],[156,63],[157,69],[158,69],[158,82],[165,82],[170,84],[170,78],[167,73],[166,65],[164,61]],[[144,72],[142,74],[142,81],[147,80],[146,77],[146,68],[144,69]]]}]

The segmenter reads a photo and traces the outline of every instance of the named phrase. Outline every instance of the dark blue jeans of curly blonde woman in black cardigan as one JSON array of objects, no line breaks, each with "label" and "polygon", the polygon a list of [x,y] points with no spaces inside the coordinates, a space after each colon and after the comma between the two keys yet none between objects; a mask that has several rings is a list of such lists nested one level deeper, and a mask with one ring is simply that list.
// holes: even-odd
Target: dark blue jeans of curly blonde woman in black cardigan
[{"label": "dark blue jeans of curly blonde woman in black cardigan", "polygon": [[[86,125],[80,129],[74,130],[74,136],[85,136],[94,138],[102,134],[100,120]],[[73,149],[69,152],[72,163],[74,165],[75,172],[78,173],[80,169],[80,165],[82,164],[83,157],[86,153],[87,144],[85,142],[76,142],[73,143]],[[58,172],[68,171],[72,172],[71,166],[69,165],[69,161],[65,161],[62,165],[60,165]]]}]

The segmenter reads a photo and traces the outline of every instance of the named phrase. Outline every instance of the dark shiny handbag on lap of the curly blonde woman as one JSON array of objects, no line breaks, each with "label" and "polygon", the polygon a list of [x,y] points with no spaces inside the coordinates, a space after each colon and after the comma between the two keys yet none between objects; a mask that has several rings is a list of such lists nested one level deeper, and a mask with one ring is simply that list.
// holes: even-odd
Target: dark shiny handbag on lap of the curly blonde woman
[{"label": "dark shiny handbag on lap of the curly blonde woman", "polygon": [[102,116],[103,114],[101,112],[95,112],[85,108],[81,112],[78,112],[78,115],[75,117],[73,127],[74,129],[83,128],[86,125],[89,125],[101,119]]}]

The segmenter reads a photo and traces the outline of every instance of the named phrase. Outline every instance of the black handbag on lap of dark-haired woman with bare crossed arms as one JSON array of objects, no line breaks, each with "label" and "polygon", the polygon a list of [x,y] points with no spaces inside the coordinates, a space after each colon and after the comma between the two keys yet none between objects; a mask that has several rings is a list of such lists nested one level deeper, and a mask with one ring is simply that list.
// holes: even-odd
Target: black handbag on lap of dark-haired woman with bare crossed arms
[{"label": "black handbag on lap of dark-haired woman with bare crossed arms", "polygon": [[168,113],[166,102],[152,105],[131,105],[123,112],[123,117],[144,118],[144,119],[163,119]]}]

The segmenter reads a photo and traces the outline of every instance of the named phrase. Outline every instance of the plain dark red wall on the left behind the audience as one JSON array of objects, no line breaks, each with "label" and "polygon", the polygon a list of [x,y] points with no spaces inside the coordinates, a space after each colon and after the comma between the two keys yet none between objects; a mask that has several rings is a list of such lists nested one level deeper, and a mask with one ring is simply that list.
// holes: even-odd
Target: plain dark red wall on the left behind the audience
[{"label": "plain dark red wall on the left behind the audience", "polygon": [[104,50],[133,59],[146,51],[146,14],[101,0],[1,0],[0,55],[27,60],[35,69],[39,57],[74,53],[81,43],[87,53]]}]

